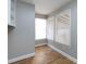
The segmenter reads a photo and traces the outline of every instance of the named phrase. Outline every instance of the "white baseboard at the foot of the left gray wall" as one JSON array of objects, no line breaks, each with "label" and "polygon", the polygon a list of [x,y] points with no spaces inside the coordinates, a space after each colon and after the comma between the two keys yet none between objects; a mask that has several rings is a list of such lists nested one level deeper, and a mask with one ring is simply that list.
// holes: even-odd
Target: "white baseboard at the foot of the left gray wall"
[{"label": "white baseboard at the foot of the left gray wall", "polygon": [[35,52],[30,53],[30,54],[26,54],[26,55],[21,55],[21,56],[9,60],[8,63],[17,62],[17,61],[21,61],[21,60],[24,60],[24,59],[27,59],[27,57],[32,57],[34,55],[35,55]]}]

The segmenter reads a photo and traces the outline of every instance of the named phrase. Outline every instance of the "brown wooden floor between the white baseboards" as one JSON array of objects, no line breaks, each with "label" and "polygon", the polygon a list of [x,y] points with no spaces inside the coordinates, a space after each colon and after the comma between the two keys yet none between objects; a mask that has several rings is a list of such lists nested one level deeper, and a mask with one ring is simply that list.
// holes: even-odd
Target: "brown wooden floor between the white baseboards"
[{"label": "brown wooden floor between the white baseboards", "polygon": [[36,54],[34,57],[25,59],[12,64],[75,64],[48,46],[36,47],[35,49]]}]

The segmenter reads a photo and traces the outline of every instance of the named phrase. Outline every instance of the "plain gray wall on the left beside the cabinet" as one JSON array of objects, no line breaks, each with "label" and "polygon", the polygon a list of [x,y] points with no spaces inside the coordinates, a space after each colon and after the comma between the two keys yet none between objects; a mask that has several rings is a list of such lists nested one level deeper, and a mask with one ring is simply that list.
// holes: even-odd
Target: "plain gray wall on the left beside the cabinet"
[{"label": "plain gray wall on the left beside the cabinet", "polygon": [[35,5],[17,1],[15,23],[8,34],[9,60],[35,52]]}]

